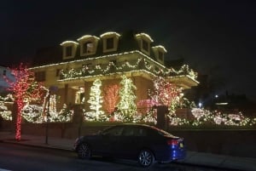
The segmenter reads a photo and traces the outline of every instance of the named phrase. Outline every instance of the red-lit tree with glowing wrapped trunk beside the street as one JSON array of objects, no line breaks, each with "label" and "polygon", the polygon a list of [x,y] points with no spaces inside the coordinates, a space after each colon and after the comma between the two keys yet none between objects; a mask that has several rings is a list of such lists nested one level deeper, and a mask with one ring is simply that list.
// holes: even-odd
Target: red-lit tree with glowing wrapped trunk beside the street
[{"label": "red-lit tree with glowing wrapped trunk beside the street", "polygon": [[20,140],[22,121],[21,110],[27,102],[39,102],[43,100],[44,87],[35,81],[34,73],[24,64],[21,63],[17,68],[11,68],[10,70],[15,77],[15,81],[10,80],[8,77],[4,78],[5,81],[9,83],[8,90],[13,92],[15,104],[17,105],[15,140]]}]

